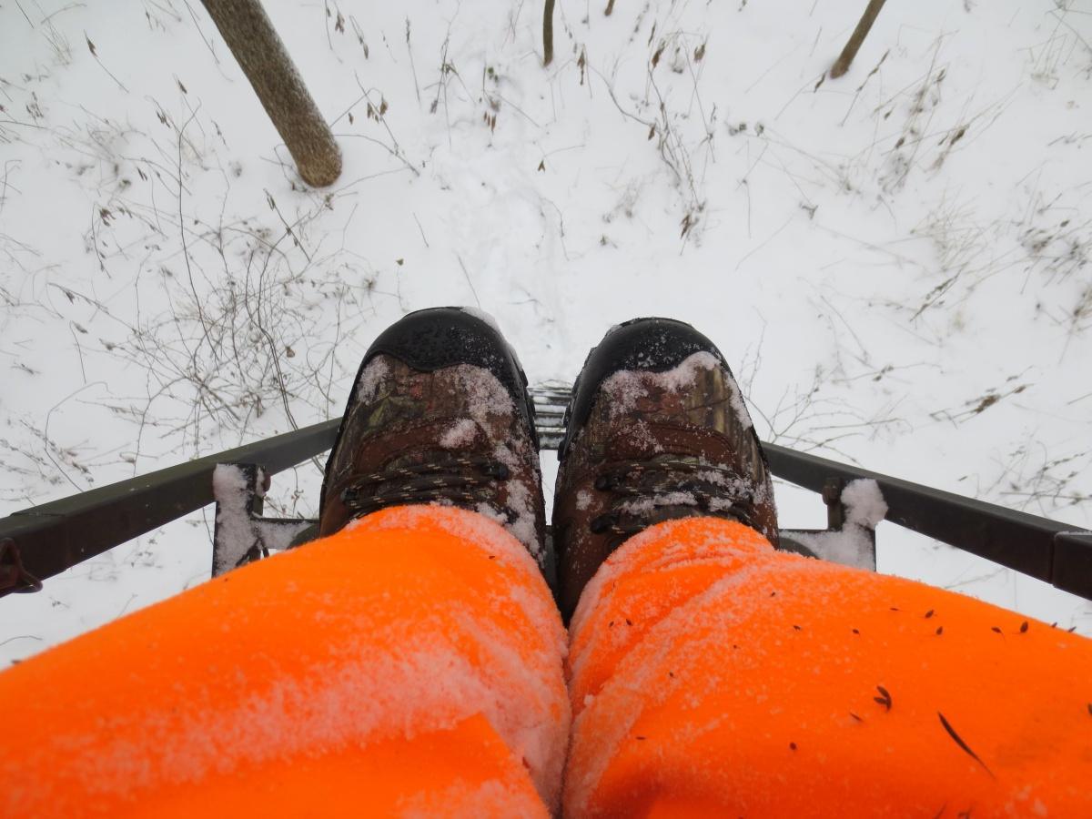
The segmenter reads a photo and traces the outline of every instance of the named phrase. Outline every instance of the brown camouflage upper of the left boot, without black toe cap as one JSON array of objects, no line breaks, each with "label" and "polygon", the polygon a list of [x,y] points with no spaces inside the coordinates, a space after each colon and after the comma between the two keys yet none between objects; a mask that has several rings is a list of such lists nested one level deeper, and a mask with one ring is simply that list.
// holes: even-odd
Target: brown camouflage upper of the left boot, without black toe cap
[{"label": "brown camouflage upper of the left boot, without black toe cap", "polygon": [[320,535],[385,507],[456,506],[503,525],[543,565],[538,449],[511,393],[486,367],[422,370],[369,353],[327,464]]}]

